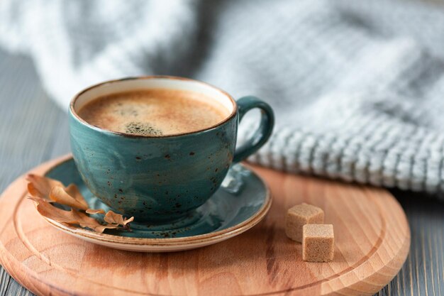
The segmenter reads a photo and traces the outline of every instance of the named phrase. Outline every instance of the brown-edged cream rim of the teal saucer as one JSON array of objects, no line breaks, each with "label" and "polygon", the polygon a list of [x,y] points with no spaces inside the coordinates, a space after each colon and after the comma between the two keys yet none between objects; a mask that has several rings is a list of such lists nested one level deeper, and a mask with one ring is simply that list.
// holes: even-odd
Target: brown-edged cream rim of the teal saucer
[{"label": "brown-edged cream rim of the teal saucer", "polygon": [[[59,162],[53,164],[43,172],[43,175],[47,175],[51,170],[54,170],[57,166],[62,165],[63,163],[67,163],[68,161],[74,161],[72,158],[72,155],[70,155],[65,160],[60,160]],[[238,234],[243,233],[244,231],[247,231],[248,229],[251,229],[253,226],[258,224],[262,219],[265,217],[267,212],[270,210],[270,207],[272,205],[272,196],[270,194],[270,188],[267,186],[267,183],[257,175],[256,172],[251,170],[250,168],[243,165],[243,163],[239,163],[239,165],[242,165],[243,168],[251,172],[255,177],[257,177],[260,182],[265,187],[265,200],[262,204],[262,207],[260,207],[255,214],[252,214],[248,219],[245,221],[242,221],[239,224],[236,224],[234,226],[228,227],[226,229],[222,229],[220,231],[214,231],[207,234],[199,234],[196,236],[185,236],[180,238],[134,238],[134,237],[128,237],[128,236],[116,236],[112,234],[99,234],[95,231],[91,231],[88,229],[82,229],[82,228],[74,228],[70,226],[66,226],[58,221],[55,221],[53,219],[47,218],[45,216],[42,216],[46,221],[48,221],[52,226],[55,226],[55,228],[60,229],[61,231],[64,231],[68,234],[72,234],[74,236],[83,236],[86,239],[89,240],[95,240],[95,241],[101,241],[104,243],[118,243],[118,244],[124,244],[124,245],[135,245],[135,246],[177,246],[179,243],[183,243],[184,245],[194,245],[194,244],[201,244],[201,243],[208,243],[211,241],[222,241],[223,239],[229,239],[233,236],[236,236]]]}]

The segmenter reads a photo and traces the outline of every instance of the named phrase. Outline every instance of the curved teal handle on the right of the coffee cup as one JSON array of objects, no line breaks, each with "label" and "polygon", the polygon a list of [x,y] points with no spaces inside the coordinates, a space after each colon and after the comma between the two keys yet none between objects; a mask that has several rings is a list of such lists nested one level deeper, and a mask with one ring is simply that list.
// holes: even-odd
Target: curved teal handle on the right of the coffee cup
[{"label": "curved teal handle on the right of the coffee cup", "polygon": [[259,148],[267,142],[268,138],[270,138],[274,126],[274,114],[269,104],[253,96],[242,97],[238,99],[237,104],[239,122],[251,109],[259,108],[261,112],[259,128],[257,128],[257,131],[255,131],[246,143],[236,148],[233,163],[238,163],[259,150]]}]

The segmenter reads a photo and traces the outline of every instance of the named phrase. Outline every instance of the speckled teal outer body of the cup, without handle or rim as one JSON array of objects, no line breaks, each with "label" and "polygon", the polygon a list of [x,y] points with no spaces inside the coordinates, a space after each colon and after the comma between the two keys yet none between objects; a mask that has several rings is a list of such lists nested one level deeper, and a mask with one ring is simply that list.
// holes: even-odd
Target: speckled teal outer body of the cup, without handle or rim
[{"label": "speckled teal outer body of the cup, without handle or rim", "polygon": [[91,192],[139,221],[169,221],[201,206],[233,160],[237,116],[211,130],[159,138],[70,121],[74,161]]}]

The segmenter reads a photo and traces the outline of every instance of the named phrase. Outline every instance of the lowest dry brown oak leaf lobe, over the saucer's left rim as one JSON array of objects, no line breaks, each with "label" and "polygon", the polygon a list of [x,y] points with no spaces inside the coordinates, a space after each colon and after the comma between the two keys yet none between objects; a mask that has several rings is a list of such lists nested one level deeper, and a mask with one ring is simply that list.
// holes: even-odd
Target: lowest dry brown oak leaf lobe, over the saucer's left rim
[{"label": "lowest dry brown oak leaf lobe, over the saucer's left rim", "polygon": [[30,197],[30,199],[35,202],[35,207],[42,216],[45,216],[46,218],[55,220],[62,224],[88,227],[89,229],[93,229],[100,234],[104,232],[105,229],[118,228],[118,224],[102,225],[96,219],[87,216],[87,214],[84,214],[83,212],[78,212],[75,209],[71,209],[71,211],[65,211],[63,209],[53,207],[49,202],[40,197]]}]

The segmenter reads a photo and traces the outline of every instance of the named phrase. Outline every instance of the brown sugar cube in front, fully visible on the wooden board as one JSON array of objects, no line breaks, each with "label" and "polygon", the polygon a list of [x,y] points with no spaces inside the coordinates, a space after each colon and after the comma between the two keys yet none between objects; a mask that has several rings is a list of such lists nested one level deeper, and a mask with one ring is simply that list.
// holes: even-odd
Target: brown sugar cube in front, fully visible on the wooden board
[{"label": "brown sugar cube in front, fully visible on the wooden board", "polygon": [[335,236],[331,224],[306,224],[302,234],[302,259],[328,262],[335,253]]}]

